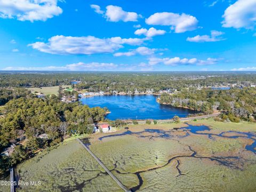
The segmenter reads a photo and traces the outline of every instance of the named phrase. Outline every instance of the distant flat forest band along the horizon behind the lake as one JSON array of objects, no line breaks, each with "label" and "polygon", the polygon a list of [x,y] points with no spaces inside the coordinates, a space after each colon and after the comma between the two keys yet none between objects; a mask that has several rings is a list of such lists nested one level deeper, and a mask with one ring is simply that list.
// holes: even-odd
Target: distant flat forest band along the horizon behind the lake
[{"label": "distant flat forest band along the horizon behind the lake", "polygon": [[181,90],[185,87],[221,86],[234,84],[250,86],[256,84],[256,73],[227,72],[154,72],[154,73],[78,73],[78,72],[2,72],[0,87],[44,87],[70,85],[78,81],[78,89],[88,89],[92,92],[117,91],[139,92],[154,89],[154,92],[166,89]]}]

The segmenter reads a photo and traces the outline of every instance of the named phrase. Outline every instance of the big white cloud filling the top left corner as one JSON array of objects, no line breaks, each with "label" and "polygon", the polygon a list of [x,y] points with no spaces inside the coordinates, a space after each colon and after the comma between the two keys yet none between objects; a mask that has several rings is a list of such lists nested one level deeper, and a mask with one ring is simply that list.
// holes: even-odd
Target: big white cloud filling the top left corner
[{"label": "big white cloud filling the top left corner", "polygon": [[62,13],[58,0],[0,0],[0,17],[46,21]]}]

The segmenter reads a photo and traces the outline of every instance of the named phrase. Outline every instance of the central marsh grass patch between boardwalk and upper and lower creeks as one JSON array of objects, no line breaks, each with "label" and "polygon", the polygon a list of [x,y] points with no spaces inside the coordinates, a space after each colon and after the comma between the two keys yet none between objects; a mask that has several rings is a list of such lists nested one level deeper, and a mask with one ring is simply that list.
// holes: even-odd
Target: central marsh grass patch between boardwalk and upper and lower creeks
[{"label": "central marsh grass patch between boardwalk and upper and lower creeks", "polygon": [[149,140],[133,135],[106,138],[103,142],[93,143],[90,149],[110,170],[116,164],[116,170],[122,173],[162,166],[170,156],[191,153],[175,140]]}]

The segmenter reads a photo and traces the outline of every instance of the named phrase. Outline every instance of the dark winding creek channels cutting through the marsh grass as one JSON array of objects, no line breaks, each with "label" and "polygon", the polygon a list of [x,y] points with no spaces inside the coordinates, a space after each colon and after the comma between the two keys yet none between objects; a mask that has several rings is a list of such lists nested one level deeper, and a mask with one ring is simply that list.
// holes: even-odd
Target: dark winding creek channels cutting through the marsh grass
[{"label": "dark winding creek channels cutting through the marsh grass", "polygon": [[[201,126],[194,126],[194,125],[189,125],[186,127],[181,127],[179,130],[182,130],[185,132],[185,134],[183,135],[172,135],[172,133],[174,132],[174,130],[170,130],[170,131],[164,131],[164,130],[159,130],[159,129],[145,129],[144,131],[141,132],[132,132],[130,130],[126,130],[123,133],[117,133],[117,134],[111,134],[111,135],[106,135],[103,137],[100,137],[99,140],[102,141],[103,139],[106,138],[110,138],[110,137],[120,137],[123,135],[134,135],[135,137],[140,137],[140,138],[149,138],[149,139],[154,139],[154,138],[164,138],[164,139],[173,139],[173,140],[177,140],[179,142],[178,138],[184,138],[184,137],[188,137],[191,134],[196,134],[196,135],[207,135],[207,137],[211,140],[215,140],[216,137],[221,137],[221,138],[229,138],[229,139],[237,139],[237,138],[245,138],[245,139],[250,139],[252,140],[251,145],[246,145],[245,149],[248,151],[252,151],[252,153],[254,153],[256,155],[256,133],[252,133],[252,132],[237,132],[237,131],[226,131],[226,132],[221,132],[219,134],[215,134],[215,133],[211,133],[211,129],[208,126],[205,125],[201,125]],[[143,133],[147,133],[145,136]],[[152,133],[152,134],[149,134]],[[89,140],[84,140],[84,143],[86,143],[87,146],[90,146],[90,142]],[[199,159],[210,159],[211,161],[215,161],[218,162],[220,165],[224,165],[224,166],[228,166],[228,167],[232,167],[234,169],[241,169],[241,167],[237,166],[237,164],[235,163],[236,160],[239,161],[239,159],[241,157],[239,156],[199,156],[197,155],[197,152],[195,150],[193,150],[193,148],[191,146],[186,145],[186,147],[188,148],[189,151],[191,151],[191,153],[189,155],[177,155],[174,156],[172,158],[170,158],[164,165],[162,166],[157,166],[148,170],[143,170],[143,171],[138,171],[138,172],[132,172],[132,174],[137,175],[139,183],[137,186],[132,187],[131,190],[132,191],[137,191],[140,189],[140,187],[143,184],[143,179],[141,177],[141,173],[143,172],[147,172],[147,171],[153,171],[153,170],[157,170],[157,169],[161,169],[162,167],[165,167],[166,165],[170,164],[173,161],[176,161],[176,166],[175,168],[177,169],[178,175],[176,177],[179,177],[180,175],[182,175],[181,170],[179,169],[179,165],[180,165],[180,161],[179,158],[180,157],[189,157],[189,158],[199,158]],[[156,157],[157,158],[157,157]],[[116,170],[116,165],[115,168],[111,171],[116,171],[119,174],[128,174],[128,173],[122,173],[118,170]]]}]

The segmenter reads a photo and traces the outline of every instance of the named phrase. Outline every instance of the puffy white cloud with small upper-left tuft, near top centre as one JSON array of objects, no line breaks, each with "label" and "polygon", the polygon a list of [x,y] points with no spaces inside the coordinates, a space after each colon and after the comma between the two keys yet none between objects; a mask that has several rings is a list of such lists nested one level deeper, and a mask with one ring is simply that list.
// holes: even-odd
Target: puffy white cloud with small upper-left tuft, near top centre
[{"label": "puffy white cloud with small upper-left tuft, near top centre", "polygon": [[99,5],[91,5],[91,8],[98,14],[102,14],[107,21],[118,22],[118,21],[138,21],[142,16],[135,12],[124,11],[122,7],[108,5],[106,6],[106,12],[102,11]]}]

